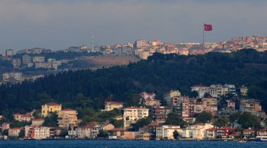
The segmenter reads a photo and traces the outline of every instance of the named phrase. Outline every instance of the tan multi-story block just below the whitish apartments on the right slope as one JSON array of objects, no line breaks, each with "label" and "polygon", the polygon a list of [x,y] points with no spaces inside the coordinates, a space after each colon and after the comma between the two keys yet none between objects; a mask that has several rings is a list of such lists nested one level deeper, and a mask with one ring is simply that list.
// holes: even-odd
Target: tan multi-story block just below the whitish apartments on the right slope
[{"label": "tan multi-story block just below the whitish apartments on the right slope", "polygon": [[216,98],[207,97],[202,98],[203,112],[210,112],[212,115],[216,115],[218,111],[218,101]]}]

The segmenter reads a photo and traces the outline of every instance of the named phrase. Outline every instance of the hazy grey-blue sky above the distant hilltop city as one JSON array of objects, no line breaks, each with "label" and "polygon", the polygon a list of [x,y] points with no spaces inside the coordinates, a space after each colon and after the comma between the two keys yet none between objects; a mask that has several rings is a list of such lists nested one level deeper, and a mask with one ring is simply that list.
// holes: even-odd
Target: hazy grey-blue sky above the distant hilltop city
[{"label": "hazy grey-blue sky above the distant hilltop city", "polygon": [[267,35],[266,0],[0,0],[0,51]]}]

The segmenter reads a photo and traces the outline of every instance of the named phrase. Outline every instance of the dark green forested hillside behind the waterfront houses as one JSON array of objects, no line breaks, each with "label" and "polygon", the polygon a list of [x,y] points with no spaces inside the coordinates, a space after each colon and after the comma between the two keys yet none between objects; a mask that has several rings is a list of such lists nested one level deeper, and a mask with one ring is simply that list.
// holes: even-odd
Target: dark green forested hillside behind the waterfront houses
[{"label": "dark green forested hillside behind the waterfront houses", "polygon": [[[196,84],[233,83],[249,87],[249,97],[261,100],[267,110],[267,52],[245,49],[236,53],[207,53],[205,55],[162,55],[155,53],[148,60],[98,69],[60,72],[35,82],[25,81],[0,87],[0,114],[29,112],[40,109],[46,102],[62,103],[63,107],[90,108],[99,112],[108,96],[125,106],[138,104],[138,93],[145,90],[163,99],[173,89],[183,95]],[[79,115],[79,117],[82,117]]]}]

